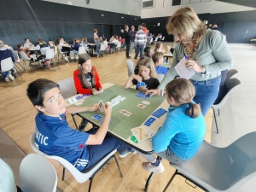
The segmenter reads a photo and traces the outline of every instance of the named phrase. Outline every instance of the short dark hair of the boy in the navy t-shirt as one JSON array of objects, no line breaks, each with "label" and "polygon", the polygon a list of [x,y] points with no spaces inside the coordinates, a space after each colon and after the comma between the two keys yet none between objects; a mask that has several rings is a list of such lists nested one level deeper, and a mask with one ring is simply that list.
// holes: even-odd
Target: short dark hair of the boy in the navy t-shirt
[{"label": "short dark hair of the boy in the navy t-shirt", "polygon": [[28,96],[34,106],[38,105],[44,107],[43,102],[46,91],[51,90],[55,87],[60,88],[59,84],[56,84],[49,79],[37,79],[32,83],[28,84],[26,96]]}]

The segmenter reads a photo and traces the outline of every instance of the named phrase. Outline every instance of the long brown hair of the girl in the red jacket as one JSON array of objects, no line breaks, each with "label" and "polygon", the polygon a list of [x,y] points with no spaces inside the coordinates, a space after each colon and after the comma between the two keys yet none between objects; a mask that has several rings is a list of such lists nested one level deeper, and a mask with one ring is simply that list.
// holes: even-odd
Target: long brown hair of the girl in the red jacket
[{"label": "long brown hair of the girl in the red jacket", "polygon": [[91,68],[91,87],[89,86],[88,84],[88,81],[84,75],[84,71],[83,71],[83,68],[82,68],[82,65],[84,62],[90,60],[90,56],[87,55],[87,54],[81,54],[79,55],[79,79],[81,81],[81,85],[84,89],[92,89],[95,87],[95,84],[96,84],[96,79],[95,79],[95,71],[94,71],[94,68],[92,67]]}]

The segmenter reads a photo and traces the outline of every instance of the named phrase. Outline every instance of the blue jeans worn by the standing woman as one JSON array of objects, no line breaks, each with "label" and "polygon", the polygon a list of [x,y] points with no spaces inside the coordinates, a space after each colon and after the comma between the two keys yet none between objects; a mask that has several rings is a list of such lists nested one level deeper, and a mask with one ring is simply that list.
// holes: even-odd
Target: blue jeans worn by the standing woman
[{"label": "blue jeans worn by the standing woman", "polygon": [[192,80],[192,84],[195,86],[194,102],[201,105],[201,113],[206,116],[209,108],[212,107],[218,96],[220,76],[218,78],[209,79],[205,81]]}]

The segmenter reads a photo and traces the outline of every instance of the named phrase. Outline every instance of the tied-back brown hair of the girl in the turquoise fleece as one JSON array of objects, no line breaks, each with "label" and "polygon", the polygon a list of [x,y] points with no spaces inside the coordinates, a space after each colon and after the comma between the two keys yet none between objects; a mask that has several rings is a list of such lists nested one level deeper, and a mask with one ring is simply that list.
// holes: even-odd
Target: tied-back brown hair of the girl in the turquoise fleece
[{"label": "tied-back brown hair of the girl in the turquoise fleece", "polygon": [[187,79],[174,79],[166,84],[166,94],[174,99],[177,105],[189,104],[187,115],[191,118],[197,118],[201,114],[201,107],[192,103],[195,96],[195,87]]}]

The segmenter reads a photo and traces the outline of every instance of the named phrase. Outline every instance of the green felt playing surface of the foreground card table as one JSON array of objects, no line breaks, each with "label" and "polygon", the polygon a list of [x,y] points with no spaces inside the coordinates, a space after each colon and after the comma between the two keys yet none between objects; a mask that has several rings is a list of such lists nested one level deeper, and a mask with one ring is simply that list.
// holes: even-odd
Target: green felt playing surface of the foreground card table
[{"label": "green felt playing surface of the foreground card table", "polygon": [[[165,100],[164,96],[155,95],[148,99],[137,97],[136,94],[139,90],[127,89],[125,90],[123,86],[114,84],[108,89],[104,90],[102,94],[96,96],[90,96],[84,100],[82,106],[91,106],[95,103],[98,103],[100,100],[102,102],[109,102],[116,96],[125,96],[125,100],[119,102],[112,109],[112,117],[109,124],[109,130],[113,133],[127,139],[131,136],[131,128],[142,125],[143,122],[148,119],[149,115],[155,111],[156,108]],[[143,101],[151,102],[146,108],[138,108],[137,104],[142,103]],[[125,114],[119,113],[121,109],[125,109],[131,112],[131,116],[126,117]],[[88,119],[96,124],[99,124],[99,121],[92,119],[91,117],[96,114],[96,112],[83,112],[79,113],[85,119]],[[97,113],[104,117],[104,113]]]}]

